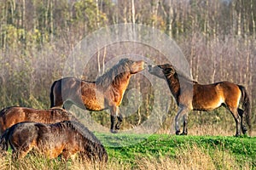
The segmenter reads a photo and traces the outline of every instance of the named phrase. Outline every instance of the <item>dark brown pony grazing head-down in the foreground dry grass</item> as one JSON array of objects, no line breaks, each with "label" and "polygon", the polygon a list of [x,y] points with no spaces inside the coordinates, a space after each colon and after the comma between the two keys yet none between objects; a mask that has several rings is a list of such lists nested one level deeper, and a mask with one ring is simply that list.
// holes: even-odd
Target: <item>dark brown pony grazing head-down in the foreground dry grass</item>
[{"label": "dark brown pony grazing head-down in the foreground dry grass", "polygon": [[79,153],[86,161],[108,161],[104,146],[79,122],[20,122],[4,131],[0,139],[2,156],[9,145],[14,159],[23,158],[34,149],[50,159],[61,155],[67,160]]}]

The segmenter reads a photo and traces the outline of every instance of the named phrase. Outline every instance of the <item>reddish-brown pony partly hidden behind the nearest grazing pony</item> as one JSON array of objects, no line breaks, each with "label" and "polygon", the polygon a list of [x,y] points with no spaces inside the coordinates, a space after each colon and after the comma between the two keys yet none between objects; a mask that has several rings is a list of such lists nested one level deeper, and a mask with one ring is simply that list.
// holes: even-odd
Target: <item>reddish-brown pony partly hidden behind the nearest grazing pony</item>
[{"label": "reddish-brown pony partly hidden behind the nearest grazing pony", "polygon": [[55,123],[61,121],[78,121],[72,113],[61,108],[38,110],[27,107],[7,107],[0,111],[0,134],[18,122]]}]

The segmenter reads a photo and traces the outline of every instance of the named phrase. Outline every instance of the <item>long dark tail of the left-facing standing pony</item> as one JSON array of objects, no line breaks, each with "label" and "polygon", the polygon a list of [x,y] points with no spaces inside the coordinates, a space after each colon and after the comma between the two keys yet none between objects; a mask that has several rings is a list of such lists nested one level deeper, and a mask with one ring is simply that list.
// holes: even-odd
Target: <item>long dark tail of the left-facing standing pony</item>
[{"label": "long dark tail of the left-facing standing pony", "polygon": [[249,127],[249,133],[251,133],[252,131],[252,122],[251,122],[251,105],[250,105],[250,99],[249,96],[247,94],[247,90],[246,88],[244,88],[243,86],[239,85],[238,86],[241,90],[241,103],[242,103],[242,108],[243,111],[246,115],[246,121],[247,121],[247,125]]}]

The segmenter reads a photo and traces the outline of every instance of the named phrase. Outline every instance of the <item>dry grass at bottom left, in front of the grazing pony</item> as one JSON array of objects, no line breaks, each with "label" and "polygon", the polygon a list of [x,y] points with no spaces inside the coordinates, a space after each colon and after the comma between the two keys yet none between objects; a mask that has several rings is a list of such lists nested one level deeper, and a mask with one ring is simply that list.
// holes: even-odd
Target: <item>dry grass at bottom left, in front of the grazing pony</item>
[{"label": "dry grass at bottom left, in front of the grazing pony", "polygon": [[28,154],[25,158],[18,161],[12,161],[11,154],[0,158],[0,169],[1,170],[28,170],[28,169],[40,169],[40,170],[60,170],[60,169],[71,169],[71,170],[121,170],[131,169],[131,165],[120,161],[108,161],[108,163],[100,162],[88,162],[82,161],[79,158],[75,158],[69,161],[62,161],[59,158],[49,160],[47,157],[39,154]]}]

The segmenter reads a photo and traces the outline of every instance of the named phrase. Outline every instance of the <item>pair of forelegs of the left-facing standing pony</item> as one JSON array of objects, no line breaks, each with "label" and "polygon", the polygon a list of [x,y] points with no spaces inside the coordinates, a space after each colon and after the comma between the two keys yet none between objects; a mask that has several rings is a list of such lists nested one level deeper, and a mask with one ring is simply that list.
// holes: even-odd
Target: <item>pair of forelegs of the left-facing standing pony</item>
[{"label": "pair of forelegs of the left-facing standing pony", "polygon": [[183,116],[183,133],[182,134],[187,134],[188,130],[187,130],[187,116],[186,116],[186,109],[183,107],[179,107],[179,110],[177,111],[177,115],[175,116],[175,133],[179,134],[180,133],[180,129],[179,129],[179,118],[180,116]]}]

